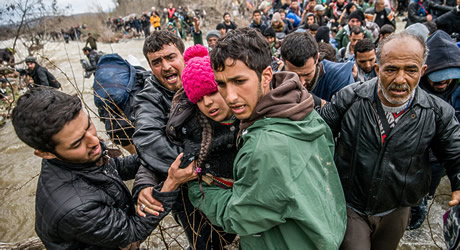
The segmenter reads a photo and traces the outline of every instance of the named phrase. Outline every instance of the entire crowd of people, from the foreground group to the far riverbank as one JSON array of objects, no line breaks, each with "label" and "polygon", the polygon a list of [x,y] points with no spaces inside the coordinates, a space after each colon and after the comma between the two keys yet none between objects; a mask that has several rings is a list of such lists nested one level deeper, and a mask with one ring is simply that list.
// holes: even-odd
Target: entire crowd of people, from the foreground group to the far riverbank
[{"label": "entire crowd of people, from the foreground group to the far riverbank", "polygon": [[[105,146],[77,96],[33,88],[13,111],[18,137],[43,158],[37,235],[50,249],[135,249],[171,212],[192,249],[237,235],[242,249],[396,249],[447,175],[444,235],[457,248],[460,25],[443,20],[460,1],[449,4],[263,1],[249,27],[224,13],[206,43],[185,8],[153,8],[146,26],[132,17],[150,71],[132,63],[121,113],[99,110],[131,156]],[[47,75],[26,63],[34,82]],[[130,126],[115,138],[119,117]]]}]

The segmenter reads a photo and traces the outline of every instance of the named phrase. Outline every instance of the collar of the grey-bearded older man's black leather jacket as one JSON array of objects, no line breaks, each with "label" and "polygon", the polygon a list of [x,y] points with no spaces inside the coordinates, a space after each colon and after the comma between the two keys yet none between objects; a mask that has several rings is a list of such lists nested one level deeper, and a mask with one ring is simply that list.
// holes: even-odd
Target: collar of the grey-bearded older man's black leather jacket
[{"label": "collar of the grey-bearded older man's black leather jacket", "polygon": [[[377,79],[378,77],[375,77],[369,81],[357,84],[355,86],[356,95],[363,99],[374,101],[374,91],[377,87]],[[417,85],[411,106],[414,107],[415,105],[420,105],[423,108],[430,108],[431,104],[428,101],[427,95],[428,94],[423,89],[421,89],[420,86]]]}]

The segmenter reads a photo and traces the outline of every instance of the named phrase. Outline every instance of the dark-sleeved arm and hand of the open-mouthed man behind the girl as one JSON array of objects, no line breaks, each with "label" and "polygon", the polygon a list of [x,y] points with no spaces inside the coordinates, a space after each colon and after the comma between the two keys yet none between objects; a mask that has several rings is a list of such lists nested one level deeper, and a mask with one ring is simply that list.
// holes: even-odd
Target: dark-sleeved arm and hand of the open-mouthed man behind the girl
[{"label": "dark-sleeved arm and hand of the open-mouthed man behind the girl", "polygon": [[167,139],[165,127],[169,110],[164,107],[160,95],[146,80],[144,89],[134,101],[136,130],[133,142],[142,166],[134,182],[133,198],[137,201],[143,197],[145,205],[152,204],[155,211],[160,211],[161,203],[151,197],[152,187],[166,179],[170,165],[182,151]]}]

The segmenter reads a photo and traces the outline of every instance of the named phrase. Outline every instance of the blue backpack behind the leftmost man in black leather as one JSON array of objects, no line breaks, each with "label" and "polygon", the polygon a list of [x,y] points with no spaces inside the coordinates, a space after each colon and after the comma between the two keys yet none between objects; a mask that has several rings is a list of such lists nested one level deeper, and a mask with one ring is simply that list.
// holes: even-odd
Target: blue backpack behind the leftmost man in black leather
[{"label": "blue backpack behind the leftmost man in black leather", "polygon": [[94,75],[94,104],[101,109],[124,110],[136,81],[136,69],[118,54],[99,59]]}]

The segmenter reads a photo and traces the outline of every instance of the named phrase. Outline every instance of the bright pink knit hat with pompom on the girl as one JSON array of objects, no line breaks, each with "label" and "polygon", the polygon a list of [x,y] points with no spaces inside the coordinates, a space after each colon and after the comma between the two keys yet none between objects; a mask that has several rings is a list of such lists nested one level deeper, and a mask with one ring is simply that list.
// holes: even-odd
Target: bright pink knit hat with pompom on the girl
[{"label": "bright pink knit hat with pompom on the girl", "polygon": [[198,44],[185,51],[184,60],[182,86],[188,99],[196,104],[203,96],[217,91],[211,59],[206,47]]}]

